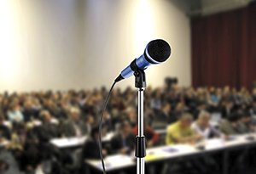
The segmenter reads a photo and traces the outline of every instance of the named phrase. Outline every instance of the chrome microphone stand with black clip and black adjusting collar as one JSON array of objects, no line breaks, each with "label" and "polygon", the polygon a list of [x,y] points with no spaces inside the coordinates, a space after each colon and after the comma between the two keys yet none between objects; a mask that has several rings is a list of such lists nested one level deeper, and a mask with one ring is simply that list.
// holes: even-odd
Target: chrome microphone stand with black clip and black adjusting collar
[{"label": "chrome microphone stand with black clip and black adjusting collar", "polygon": [[135,156],[137,157],[137,174],[145,173],[146,140],[143,129],[143,94],[146,87],[146,76],[144,70],[137,69],[134,72],[135,87],[137,87],[137,125]]}]

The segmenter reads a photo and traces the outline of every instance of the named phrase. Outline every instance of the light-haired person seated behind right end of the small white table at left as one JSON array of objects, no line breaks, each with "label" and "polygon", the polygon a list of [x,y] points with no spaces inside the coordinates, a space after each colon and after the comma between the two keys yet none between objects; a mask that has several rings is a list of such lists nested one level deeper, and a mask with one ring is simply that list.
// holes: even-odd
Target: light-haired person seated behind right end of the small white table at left
[{"label": "light-haired person seated behind right end of the small white table at left", "polygon": [[71,108],[69,110],[69,119],[61,127],[64,137],[79,137],[87,133],[87,127],[84,121],[80,121],[80,110]]}]

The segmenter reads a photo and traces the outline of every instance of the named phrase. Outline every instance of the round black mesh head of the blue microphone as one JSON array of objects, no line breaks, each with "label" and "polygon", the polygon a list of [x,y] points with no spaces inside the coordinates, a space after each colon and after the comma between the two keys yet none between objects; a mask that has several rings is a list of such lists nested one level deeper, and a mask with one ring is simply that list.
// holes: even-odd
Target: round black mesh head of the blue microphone
[{"label": "round black mesh head of the blue microphone", "polygon": [[171,47],[162,39],[156,39],[149,42],[145,49],[145,57],[152,64],[164,62],[170,57],[170,55]]}]

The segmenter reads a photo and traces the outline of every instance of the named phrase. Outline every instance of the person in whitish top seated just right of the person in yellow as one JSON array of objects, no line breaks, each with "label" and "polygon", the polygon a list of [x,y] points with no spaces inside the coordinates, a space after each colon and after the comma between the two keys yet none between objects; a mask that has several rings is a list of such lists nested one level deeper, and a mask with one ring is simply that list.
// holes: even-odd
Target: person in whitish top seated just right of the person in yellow
[{"label": "person in whitish top seated just right of the person in yellow", "polygon": [[220,137],[221,135],[221,132],[209,124],[210,117],[207,111],[202,110],[198,115],[198,119],[192,124],[194,132],[206,139]]}]

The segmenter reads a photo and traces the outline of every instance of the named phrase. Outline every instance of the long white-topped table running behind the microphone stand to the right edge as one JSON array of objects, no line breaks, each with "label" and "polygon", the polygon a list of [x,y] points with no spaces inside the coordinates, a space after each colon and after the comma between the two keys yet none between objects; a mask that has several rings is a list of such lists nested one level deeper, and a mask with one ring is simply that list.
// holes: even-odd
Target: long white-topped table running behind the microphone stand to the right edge
[{"label": "long white-topped table running behind the microphone stand to the right edge", "polygon": [[[161,146],[157,148],[147,149],[146,163],[154,163],[160,161],[176,160],[178,158],[187,158],[197,155],[204,155],[214,152],[224,153],[224,167],[223,173],[228,173],[229,164],[226,160],[228,151],[231,149],[245,148],[247,146],[256,147],[256,135],[250,135],[255,138],[248,140],[248,135],[241,135],[231,138],[230,141],[224,141],[222,138],[213,138],[205,140],[205,149],[198,149],[197,146],[189,144],[177,144],[172,146]],[[136,166],[136,158],[124,154],[109,155],[105,159],[106,171],[119,171],[120,169]],[[102,171],[102,164],[100,160],[85,160],[85,163],[98,170]]]}]

